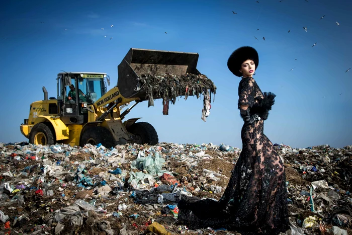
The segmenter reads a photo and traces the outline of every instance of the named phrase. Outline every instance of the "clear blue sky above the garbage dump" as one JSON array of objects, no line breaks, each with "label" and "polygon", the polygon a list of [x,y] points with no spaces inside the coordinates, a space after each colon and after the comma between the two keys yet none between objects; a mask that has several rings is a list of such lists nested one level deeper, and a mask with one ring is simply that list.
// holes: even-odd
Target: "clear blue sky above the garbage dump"
[{"label": "clear blue sky above the garbage dump", "polygon": [[199,53],[198,70],[218,89],[207,122],[196,97],[180,98],[168,116],[158,100],[128,117],[151,123],[159,141],[241,148],[240,79],[226,62],[249,45],[259,53],[257,84],[277,95],[264,131],[273,143],[352,144],[352,69],[345,72],[352,67],[352,1],[308,1],[2,1],[0,142],[27,140],[20,124],[31,102],[43,99],[42,86],[56,97],[60,70],[107,72],[112,87],[133,47]]}]

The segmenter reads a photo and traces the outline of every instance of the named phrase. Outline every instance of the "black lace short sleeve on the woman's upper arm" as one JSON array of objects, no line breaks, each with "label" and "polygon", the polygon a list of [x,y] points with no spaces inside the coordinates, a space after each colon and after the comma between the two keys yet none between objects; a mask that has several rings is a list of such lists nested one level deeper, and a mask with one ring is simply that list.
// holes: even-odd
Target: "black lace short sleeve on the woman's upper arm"
[{"label": "black lace short sleeve on the woman's upper arm", "polygon": [[242,105],[249,108],[253,107],[254,97],[253,97],[253,79],[251,77],[246,77],[242,79],[238,86],[238,109]]}]

